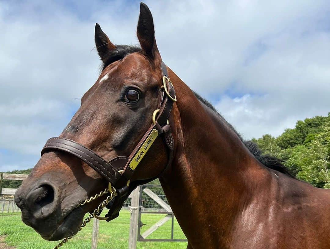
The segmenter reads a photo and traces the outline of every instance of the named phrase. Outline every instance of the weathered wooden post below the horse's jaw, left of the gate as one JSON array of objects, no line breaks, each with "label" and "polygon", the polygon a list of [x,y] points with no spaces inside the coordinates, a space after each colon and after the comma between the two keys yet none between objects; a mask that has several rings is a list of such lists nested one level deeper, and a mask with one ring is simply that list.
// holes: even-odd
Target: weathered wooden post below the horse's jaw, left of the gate
[{"label": "weathered wooden post below the horse's jaw, left of the gate", "polygon": [[137,241],[138,241],[138,220],[139,220],[139,206],[140,201],[140,188],[138,186],[132,192],[131,199],[131,219],[129,223],[129,237],[128,237],[128,249],[136,249]]}]

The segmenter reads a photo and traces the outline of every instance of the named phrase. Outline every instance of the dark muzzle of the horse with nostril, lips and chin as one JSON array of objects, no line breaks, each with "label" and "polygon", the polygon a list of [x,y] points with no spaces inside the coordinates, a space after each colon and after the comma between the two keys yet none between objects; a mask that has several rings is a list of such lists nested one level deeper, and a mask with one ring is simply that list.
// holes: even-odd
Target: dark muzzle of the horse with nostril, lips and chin
[{"label": "dark muzzle of the horse with nostril, lips and chin", "polygon": [[73,202],[62,210],[58,185],[43,179],[22,184],[15,193],[22,221],[47,240],[59,240],[77,233],[85,214],[83,208],[77,208],[77,203]]}]

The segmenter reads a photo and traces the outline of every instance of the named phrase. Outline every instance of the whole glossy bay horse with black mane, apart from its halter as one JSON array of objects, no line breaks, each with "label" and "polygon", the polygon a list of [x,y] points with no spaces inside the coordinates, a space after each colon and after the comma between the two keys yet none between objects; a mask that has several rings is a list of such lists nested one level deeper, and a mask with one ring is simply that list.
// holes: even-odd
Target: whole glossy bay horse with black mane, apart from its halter
[{"label": "whole glossy bay horse with black mane, apart from its halter", "polygon": [[[161,88],[162,59],[143,3],[137,37],[141,47],[114,45],[96,24],[103,70],[58,140],[73,141],[105,161],[128,158],[150,126],[160,91],[171,87],[168,80]],[[168,148],[155,139],[126,193],[159,177],[187,248],[329,249],[330,190],[295,179],[280,160],[261,155],[209,102],[170,68],[165,71],[177,100],[164,124],[171,128],[173,159],[167,166]],[[103,171],[89,166],[63,150],[44,152],[15,194],[23,222],[47,240],[77,233],[84,214],[99,202],[77,205],[108,186]],[[125,198],[115,197],[109,219],[118,216]]]}]

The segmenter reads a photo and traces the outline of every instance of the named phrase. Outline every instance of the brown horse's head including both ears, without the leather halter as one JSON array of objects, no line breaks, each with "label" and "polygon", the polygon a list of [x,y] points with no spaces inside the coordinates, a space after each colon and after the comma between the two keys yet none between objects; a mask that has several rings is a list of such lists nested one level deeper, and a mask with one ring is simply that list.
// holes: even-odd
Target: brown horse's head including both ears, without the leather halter
[{"label": "brown horse's head including both ears, without the leather halter", "polygon": [[[96,24],[95,43],[103,70],[59,136],[81,144],[106,161],[131,154],[159,106],[162,59],[151,13],[145,4],[140,7],[137,37],[141,47],[113,44]],[[138,184],[157,177],[167,164],[166,145],[161,139],[155,140],[131,175],[124,198],[114,200],[109,219],[118,216],[123,201]],[[93,212],[100,202],[79,204],[108,186],[108,181],[89,166],[65,151],[45,151],[15,194],[23,222],[47,240],[77,233],[85,213]],[[118,184],[114,187],[122,187],[122,183]],[[106,195],[99,200],[105,198]]]}]

